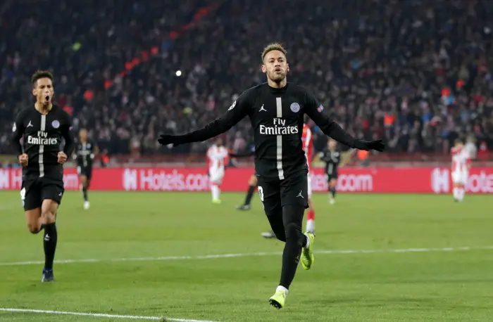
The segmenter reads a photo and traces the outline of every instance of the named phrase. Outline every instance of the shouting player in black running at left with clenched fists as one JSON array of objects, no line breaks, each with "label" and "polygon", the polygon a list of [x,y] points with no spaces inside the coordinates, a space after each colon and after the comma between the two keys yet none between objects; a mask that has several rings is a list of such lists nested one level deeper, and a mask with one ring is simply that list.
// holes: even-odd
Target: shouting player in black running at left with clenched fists
[{"label": "shouting player in black running at left with clenched fists", "polygon": [[[71,120],[67,112],[52,103],[53,75],[38,71],[32,75],[34,106],[21,110],[13,124],[12,141],[23,166],[20,198],[23,201],[27,228],[39,233],[44,228],[44,269],[42,282],[54,281],[57,232],[56,212],[63,192],[63,163],[73,153]],[[23,145],[20,138],[24,136]],[[61,150],[62,139],[65,146]]]}]

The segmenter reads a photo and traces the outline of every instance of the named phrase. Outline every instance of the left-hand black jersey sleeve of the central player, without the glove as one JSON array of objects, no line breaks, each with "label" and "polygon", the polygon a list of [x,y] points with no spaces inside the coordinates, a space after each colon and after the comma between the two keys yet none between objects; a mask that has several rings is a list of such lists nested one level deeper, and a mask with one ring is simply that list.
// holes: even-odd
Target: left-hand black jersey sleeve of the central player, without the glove
[{"label": "left-hand black jersey sleeve of the central player, without the glove", "polygon": [[244,91],[232,103],[225,114],[205,127],[181,136],[182,143],[201,142],[211,139],[231,129],[249,114],[251,108],[251,90]]}]

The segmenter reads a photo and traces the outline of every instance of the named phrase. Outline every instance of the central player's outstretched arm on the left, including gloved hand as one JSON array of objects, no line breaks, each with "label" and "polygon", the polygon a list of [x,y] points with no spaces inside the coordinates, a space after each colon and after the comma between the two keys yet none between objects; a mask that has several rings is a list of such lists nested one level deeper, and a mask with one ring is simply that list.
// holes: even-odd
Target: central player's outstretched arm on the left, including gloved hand
[{"label": "central player's outstretched arm on the left, including gloved hand", "polygon": [[214,136],[223,134],[225,131],[235,126],[235,124],[237,124],[248,114],[248,109],[249,96],[247,91],[245,91],[235,102],[232,103],[230,108],[227,109],[225,115],[207,124],[205,127],[182,135],[161,134],[158,142],[163,146],[168,144],[179,146],[184,143],[206,141]]}]

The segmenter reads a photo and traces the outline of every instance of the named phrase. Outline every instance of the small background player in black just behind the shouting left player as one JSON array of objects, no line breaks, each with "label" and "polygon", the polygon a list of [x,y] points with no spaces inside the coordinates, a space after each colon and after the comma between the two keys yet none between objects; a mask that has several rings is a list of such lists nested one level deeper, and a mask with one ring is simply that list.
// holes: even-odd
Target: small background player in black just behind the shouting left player
[{"label": "small background player in black just behind the shouting left player", "polygon": [[87,129],[80,129],[79,143],[77,144],[77,154],[74,155],[77,160],[77,174],[79,174],[80,189],[84,197],[84,209],[90,207],[87,191],[91,185],[92,179],[92,163],[94,157],[99,153],[99,148],[94,142],[87,139]]}]

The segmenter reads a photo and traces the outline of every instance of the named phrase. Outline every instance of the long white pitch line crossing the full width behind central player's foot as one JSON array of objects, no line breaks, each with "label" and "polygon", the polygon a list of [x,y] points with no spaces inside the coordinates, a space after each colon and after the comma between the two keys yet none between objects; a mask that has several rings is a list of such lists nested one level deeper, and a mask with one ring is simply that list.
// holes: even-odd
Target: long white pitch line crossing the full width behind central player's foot
[{"label": "long white pitch line crossing the full width behind central player's foot", "polygon": [[[376,254],[376,253],[406,253],[406,252],[460,252],[468,250],[493,250],[493,246],[478,246],[478,247],[442,247],[442,248],[403,248],[403,249],[382,249],[382,250],[316,250],[316,254]],[[124,257],[111,259],[60,259],[56,260],[56,264],[71,264],[71,263],[101,263],[101,262],[166,262],[175,260],[187,259],[217,259],[230,257],[257,257],[282,255],[282,252],[251,252],[244,254],[218,254],[218,255],[197,255],[197,256],[167,256],[167,257]],[[0,262],[0,266],[25,266],[44,264],[42,261],[29,262]]]}]

